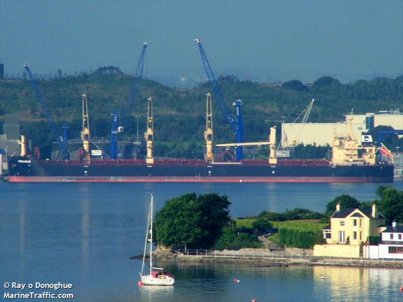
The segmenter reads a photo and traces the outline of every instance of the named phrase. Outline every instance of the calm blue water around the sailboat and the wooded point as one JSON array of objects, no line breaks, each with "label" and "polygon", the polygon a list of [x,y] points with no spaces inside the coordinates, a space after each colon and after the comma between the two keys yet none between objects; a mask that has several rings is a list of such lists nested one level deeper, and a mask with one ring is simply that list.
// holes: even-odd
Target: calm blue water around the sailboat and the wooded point
[{"label": "calm blue water around the sailboat and the wooded point", "polygon": [[161,265],[175,275],[173,287],[139,288],[141,261],[129,259],[143,252],[150,193],[156,210],[187,192],[226,194],[238,217],[286,207],[323,212],[340,194],[372,200],[378,185],[0,183],[0,293],[4,282],[61,282],[73,289],[8,291],[74,293],[75,301],[400,301],[403,274],[395,269],[170,262]]}]

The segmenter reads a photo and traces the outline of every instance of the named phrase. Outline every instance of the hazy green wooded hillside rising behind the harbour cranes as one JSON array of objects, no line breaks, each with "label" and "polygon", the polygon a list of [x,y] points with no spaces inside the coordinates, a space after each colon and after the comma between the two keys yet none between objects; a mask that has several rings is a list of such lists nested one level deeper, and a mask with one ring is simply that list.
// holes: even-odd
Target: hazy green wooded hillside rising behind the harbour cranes
[{"label": "hazy green wooded hillside rising behind the harbour cranes", "polygon": [[[92,136],[108,137],[110,112],[126,112],[127,94],[133,80],[133,77],[121,72],[93,72],[64,77],[60,74],[52,79],[39,77],[37,84],[55,122],[60,124],[65,121],[69,124],[69,137],[80,136],[83,93],[88,96]],[[243,101],[242,117],[248,141],[266,139],[268,128],[280,123],[282,116],[285,116],[286,122],[292,122],[312,98],[315,103],[308,122],[340,121],[352,109],[355,114],[390,108],[403,109],[403,75],[396,79],[359,80],[346,85],[333,78],[322,77],[310,87],[297,80],[278,85],[239,81],[233,76],[220,77],[218,80],[231,112],[233,101]],[[178,89],[155,81],[142,80],[124,135],[136,136],[136,116],[140,115],[139,136],[143,137],[147,115],[146,99],[151,96],[154,99],[155,139],[160,144],[165,144],[163,148],[169,145],[172,149],[172,143],[192,142],[203,145],[206,93],[210,90],[208,83],[195,88]],[[0,121],[3,121],[5,114],[18,114],[23,133],[25,131],[24,134],[33,140],[34,145],[48,145],[53,140],[52,132],[44,122],[45,118],[31,82],[2,80],[0,92]],[[214,99],[213,102],[215,141],[233,141],[232,130],[215,106]]]}]

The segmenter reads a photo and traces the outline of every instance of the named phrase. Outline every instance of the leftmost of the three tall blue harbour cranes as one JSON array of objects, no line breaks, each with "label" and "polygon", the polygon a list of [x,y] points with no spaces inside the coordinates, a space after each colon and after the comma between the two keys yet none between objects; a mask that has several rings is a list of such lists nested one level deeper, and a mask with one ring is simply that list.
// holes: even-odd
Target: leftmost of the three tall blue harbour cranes
[{"label": "leftmost of the three tall blue harbour cranes", "polygon": [[38,98],[43,113],[45,114],[46,120],[50,126],[50,128],[53,131],[54,136],[56,137],[57,143],[59,144],[60,150],[59,153],[57,154],[56,159],[59,159],[60,155],[63,156],[63,160],[68,160],[69,159],[69,152],[68,152],[68,144],[67,144],[67,125],[63,124],[63,136],[61,136],[56,124],[54,123],[52,116],[50,115],[49,109],[46,106],[45,101],[42,98],[42,95],[39,91],[38,85],[36,84],[36,81],[34,79],[34,76],[32,75],[31,70],[28,67],[28,64],[24,64],[24,68],[27,71],[28,75],[29,75],[29,79],[31,80],[32,83],[32,87],[34,88],[36,97]]}]

